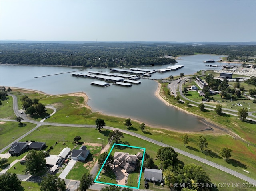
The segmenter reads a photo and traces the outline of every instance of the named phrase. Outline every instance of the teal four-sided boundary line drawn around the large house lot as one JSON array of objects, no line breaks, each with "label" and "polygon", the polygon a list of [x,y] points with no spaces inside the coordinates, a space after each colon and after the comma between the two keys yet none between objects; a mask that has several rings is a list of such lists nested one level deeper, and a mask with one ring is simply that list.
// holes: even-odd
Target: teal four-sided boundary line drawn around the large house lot
[{"label": "teal four-sided boundary line drawn around the large house lot", "polygon": [[112,184],[112,183],[106,183],[106,182],[97,181],[98,176],[100,175],[100,172],[102,171],[102,169],[103,169],[103,167],[104,167],[104,165],[105,165],[105,163],[106,163],[108,157],[110,156],[110,153],[112,152],[114,146],[116,146],[116,145],[118,145],[118,146],[125,146],[125,147],[131,147],[131,148],[137,148],[137,149],[143,149],[143,150],[144,150],[143,156],[142,156],[142,163],[141,163],[141,167],[140,167],[140,178],[141,178],[141,173],[142,173],[142,167],[143,167],[143,162],[144,162],[144,156],[145,156],[146,148],[114,143],[113,146],[112,146],[112,148],[111,148],[111,150],[110,150],[110,152],[108,153],[108,156],[107,156],[106,160],[104,161],[104,163],[103,163],[103,165],[102,165],[102,167],[101,167],[101,169],[100,169],[98,175],[96,176],[94,182],[95,182],[95,183],[101,183],[101,184],[107,184],[107,185],[114,185],[114,186],[126,187],[126,188],[135,188],[135,189],[139,189],[139,187],[140,187],[140,178],[139,178],[139,181],[138,181],[138,187],[132,187],[132,186],[126,186],[126,185],[119,185],[119,184]]}]

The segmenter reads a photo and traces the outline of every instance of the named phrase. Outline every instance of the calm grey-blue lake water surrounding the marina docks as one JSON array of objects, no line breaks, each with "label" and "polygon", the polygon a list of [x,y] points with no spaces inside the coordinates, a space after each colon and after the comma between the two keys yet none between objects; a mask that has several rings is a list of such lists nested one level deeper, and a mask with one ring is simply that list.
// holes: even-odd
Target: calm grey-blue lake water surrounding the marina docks
[{"label": "calm grey-blue lake water surrounding the marina docks", "polygon": [[[204,69],[213,69],[206,67],[203,60],[220,60],[216,55],[193,55],[182,56],[179,58],[178,65],[184,65],[184,68],[177,71],[166,73],[154,73],[152,78],[162,79],[170,75],[179,75],[180,73],[193,74],[196,71]],[[214,65],[225,65],[224,63],[214,63]],[[146,69],[166,68],[169,65],[142,67]],[[111,85],[108,87],[92,86],[90,83],[96,81],[91,78],[73,77],[70,73],[76,70],[100,71],[108,73],[109,69],[100,68],[80,68],[80,67],[49,67],[49,66],[0,66],[0,85],[7,87],[20,87],[34,89],[49,94],[66,94],[73,92],[85,92],[88,97],[88,105],[94,110],[104,114],[122,116],[139,120],[145,124],[172,128],[175,130],[198,131],[204,130],[204,122],[193,115],[186,114],[174,107],[167,106],[155,96],[158,84],[153,80],[140,79],[139,85],[132,87],[121,87]],[[216,68],[214,68],[216,69]],[[64,73],[60,75],[52,75]],[[44,75],[47,77],[34,78]],[[108,124],[106,124],[108,125]]]}]

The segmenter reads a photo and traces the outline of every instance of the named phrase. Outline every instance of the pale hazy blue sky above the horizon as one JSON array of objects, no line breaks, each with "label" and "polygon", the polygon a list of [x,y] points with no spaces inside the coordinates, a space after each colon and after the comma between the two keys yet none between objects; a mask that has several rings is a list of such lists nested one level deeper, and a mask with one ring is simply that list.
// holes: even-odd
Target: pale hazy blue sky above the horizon
[{"label": "pale hazy blue sky above the horizon", "polygon": [[255,0],[1,0],[0,39],[256,41]]}]

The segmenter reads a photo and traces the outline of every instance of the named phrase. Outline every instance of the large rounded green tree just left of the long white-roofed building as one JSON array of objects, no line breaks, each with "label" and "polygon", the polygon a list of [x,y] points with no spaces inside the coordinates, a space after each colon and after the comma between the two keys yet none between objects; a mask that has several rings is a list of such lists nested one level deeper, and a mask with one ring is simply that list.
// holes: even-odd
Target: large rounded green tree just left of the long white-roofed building
[{"label": "large rounded green tree just left of the long white-roofed building", "polygon": [[26,156],[26,169],[25,173],[35,175],[40,172],[46,166],[46,160],[44,159],[43,151],[31,150]]}]

